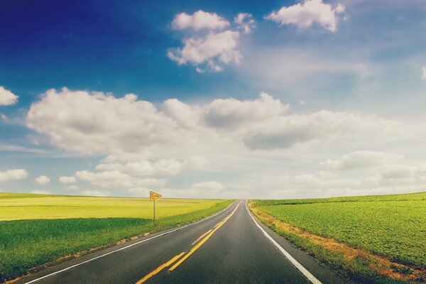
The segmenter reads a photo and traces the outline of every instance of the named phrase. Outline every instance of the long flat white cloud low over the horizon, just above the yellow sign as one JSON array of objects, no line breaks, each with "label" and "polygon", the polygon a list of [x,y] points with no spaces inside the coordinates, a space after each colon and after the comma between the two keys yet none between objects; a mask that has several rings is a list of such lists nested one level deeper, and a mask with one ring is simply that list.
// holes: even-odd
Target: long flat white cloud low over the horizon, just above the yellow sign
[{"label": "long flat white cloud low over the horizon, just above the yellow sign", "polygon": [[131,175],[121,173],[119,170],[109,170],[101,173],[80,170],[75,173],[75,178],[100,187],[160,187],[166,182],[156,178],[134,178]]}]

